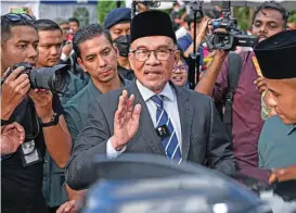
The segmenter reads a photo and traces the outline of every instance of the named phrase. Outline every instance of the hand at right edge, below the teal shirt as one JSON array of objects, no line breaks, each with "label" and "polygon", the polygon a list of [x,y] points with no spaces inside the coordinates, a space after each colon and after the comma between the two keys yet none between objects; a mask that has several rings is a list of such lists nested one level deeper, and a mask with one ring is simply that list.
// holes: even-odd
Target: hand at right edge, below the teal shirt
[{"label": "hand at right edge, below the teal shirt", "polygon": [[296,179],[296,165],[273,171],[269,177],[269,183],[272,184],[276,180],[286,181],[292,179]]}]

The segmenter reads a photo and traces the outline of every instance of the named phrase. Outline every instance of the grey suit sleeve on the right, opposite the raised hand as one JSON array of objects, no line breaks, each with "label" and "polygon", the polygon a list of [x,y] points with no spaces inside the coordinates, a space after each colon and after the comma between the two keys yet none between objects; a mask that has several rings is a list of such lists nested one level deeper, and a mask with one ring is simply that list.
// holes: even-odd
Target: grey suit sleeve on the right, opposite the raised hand
[{"label": "grey suit sleeve on the right, opposite the raised hand", "polygon": [[211,112],[207,146],[208,164],[211,168],[229,175],[236,170],[232,142],[211,100],[209,104]]}]

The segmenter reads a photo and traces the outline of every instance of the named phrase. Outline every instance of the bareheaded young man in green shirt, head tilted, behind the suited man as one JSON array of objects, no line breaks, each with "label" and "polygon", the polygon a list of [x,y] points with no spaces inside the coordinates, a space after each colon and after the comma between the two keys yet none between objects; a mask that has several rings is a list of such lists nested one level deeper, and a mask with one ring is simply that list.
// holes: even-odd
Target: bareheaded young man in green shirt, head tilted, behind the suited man
[{"label": "bareheaded young man in green shirt, head tilted, behind the suited man", "polygon": [[[78,55],[78,63],[90,75],[89,84],[65,105],[65,117],[75,146],[87,122],[89,105],[101,95],[127,86],[129,80],[118,75],[117,49],[112,43],[108,32],[100,25],[92,24],[78,29],[73,38],[73,47]],[[61,211],[74,208],[75,199],[83,193],[69,187],[67,192],[70,201],[63,204]]]}]

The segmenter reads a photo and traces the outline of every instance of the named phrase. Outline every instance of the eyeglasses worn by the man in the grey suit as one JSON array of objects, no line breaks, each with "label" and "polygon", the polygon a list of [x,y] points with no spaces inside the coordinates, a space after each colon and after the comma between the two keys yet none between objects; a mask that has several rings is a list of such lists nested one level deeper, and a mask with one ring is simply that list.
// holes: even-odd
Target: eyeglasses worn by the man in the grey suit
[{"label": "eyeglasses worn by the man in the grey suit", "polygon": [[156,50],[132,50],[131,53],[134,54],[137,61],[145,62],[149,60],[151,52],[154,52],[154,55],[158,61],[167,61],[169,59],[170,52],[176,51],[172,49],[156,49]]}]

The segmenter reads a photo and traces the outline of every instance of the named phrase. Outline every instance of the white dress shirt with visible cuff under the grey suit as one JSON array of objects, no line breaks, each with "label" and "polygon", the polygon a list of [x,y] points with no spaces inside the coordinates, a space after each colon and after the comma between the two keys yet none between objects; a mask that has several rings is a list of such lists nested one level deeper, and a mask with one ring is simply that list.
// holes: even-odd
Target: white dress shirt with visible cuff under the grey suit
[{"label": "white dress shirt with visible cuff under the grey suit", "polygon": [[[154,128],[156,128],[156,111],[157,108],[154,103],[154,101],[151,99],[155,93],[151,91],[149,88],[144,87],[138,79],[136,80],[137,87],[143,98],[143,100],[146,103],[150,116],[152,118]],[[180,122],[180,115],[178,110],[178,103],[177,103],[177,97],[175,90],[169,86],[169,83],[166,84],[163,91],[159,93],[164,97],[164,109],[167,112],[171,124],[176,130],[176,135],[178,138],[178,142],[180,145],[180,148],[182,147],[182,130],[181,130],[181,122]],[[106,147],[106,155],[108,159],[117,158],[125,150],[126,147],[124,147],[120,151],[116,151],[111,143],[112,138],[107,141]]]}]

